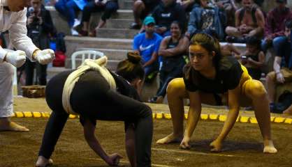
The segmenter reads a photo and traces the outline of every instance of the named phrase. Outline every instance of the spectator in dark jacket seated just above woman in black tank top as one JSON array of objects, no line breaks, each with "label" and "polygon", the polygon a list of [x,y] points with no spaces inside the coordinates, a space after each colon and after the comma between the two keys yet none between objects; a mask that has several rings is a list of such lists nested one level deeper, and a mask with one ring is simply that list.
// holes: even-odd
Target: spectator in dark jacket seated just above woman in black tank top
[{"label": "spectator in dark jacket seated just above woman in black tank top", "polygon": [[187,15],[184,8],[175,0],[162,0],[152,13],[156,22],[155,32],[162,37],[170,35],[170,24],[173,21],[180,22],[185,28],[187,24]]}]

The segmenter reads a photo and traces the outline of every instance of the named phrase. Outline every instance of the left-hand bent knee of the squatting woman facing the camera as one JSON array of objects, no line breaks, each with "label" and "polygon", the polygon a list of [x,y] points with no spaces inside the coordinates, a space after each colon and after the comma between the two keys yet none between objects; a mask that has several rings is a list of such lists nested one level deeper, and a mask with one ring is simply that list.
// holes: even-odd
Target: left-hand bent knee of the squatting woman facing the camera
[{"label": "left-hand bent knee of the squatting woman facing the camera", "polygon": [[184,95],[185,86],[182,78],[175,78],[171,80],[166,89],[168,95]]}]

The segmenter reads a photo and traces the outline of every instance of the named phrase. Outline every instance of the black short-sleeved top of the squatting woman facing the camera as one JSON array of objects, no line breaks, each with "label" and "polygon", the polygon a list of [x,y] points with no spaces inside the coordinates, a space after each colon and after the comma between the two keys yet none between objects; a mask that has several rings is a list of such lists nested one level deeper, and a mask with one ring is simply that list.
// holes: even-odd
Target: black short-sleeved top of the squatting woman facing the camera
[{"label": "black short-sleeved top of the squatting woman facing the camera", "polygon": [[226,93],[240,84],[242,72],[240,63],[231,56],[221,58],[215,79],[207,79],[188,63],[184,67],[184,84],[190,92]]}]

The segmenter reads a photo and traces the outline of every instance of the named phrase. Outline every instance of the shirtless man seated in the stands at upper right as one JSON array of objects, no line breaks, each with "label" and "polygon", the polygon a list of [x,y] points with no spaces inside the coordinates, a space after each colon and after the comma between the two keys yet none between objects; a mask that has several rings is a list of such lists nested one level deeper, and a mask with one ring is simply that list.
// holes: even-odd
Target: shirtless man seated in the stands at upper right
[{"label": "shirtless man seated in the stands at upper right", "polygon": [[226,40],[245,43],[246,38],[263,38],[265,17],[253,0],[242,0],[242,8],[235,12],[235,27],[226,27]]}]

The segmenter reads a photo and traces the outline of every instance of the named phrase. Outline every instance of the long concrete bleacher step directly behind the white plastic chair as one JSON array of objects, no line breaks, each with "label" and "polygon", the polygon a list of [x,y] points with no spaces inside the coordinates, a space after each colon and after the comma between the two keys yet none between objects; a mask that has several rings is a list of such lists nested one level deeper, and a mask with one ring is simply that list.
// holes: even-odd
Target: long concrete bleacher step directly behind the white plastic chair
[{"label": "long concrete bleacher step directly behind the white plastic chair", "polygon": [[115,38],[91,38],[91,37],[75,37],[66,36],[66,55],[70,57],[74,51],[79,48],[98,48],[98,49],[122,49],[131,50],[132,41],[129,39]]}]

